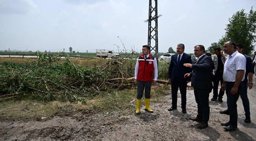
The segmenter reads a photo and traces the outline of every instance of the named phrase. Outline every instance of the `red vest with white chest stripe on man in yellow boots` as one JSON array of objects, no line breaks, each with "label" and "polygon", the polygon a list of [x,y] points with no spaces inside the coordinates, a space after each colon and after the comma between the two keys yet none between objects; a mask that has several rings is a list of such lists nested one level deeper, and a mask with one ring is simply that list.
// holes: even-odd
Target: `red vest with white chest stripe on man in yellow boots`
[{"label": "red vest with white chest stripe on man in yellow boots", "polygon": [[152,82],[153,81],[153,74],[154,74],[154,56],[149,54],[147,60],[145,61],[144,55],[142,54],[139,56],[139,71],[137,80],[139,81],[147,81]]}]

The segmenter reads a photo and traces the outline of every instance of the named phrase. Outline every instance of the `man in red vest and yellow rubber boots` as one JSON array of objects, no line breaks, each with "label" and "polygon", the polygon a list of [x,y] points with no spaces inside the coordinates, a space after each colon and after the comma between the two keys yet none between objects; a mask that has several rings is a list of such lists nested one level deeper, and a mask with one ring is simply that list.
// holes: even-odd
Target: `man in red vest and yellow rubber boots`
[{"label": "man in red vest and yellow rubber boots", "polygon": [[[137,109],[136,114],[140,114],[141,110],[141,98],[145,89],[145,111],[150,113],[153,112],[149,108],[150,104],[150,90],[152,81],[154,79],[153,85],[156,85],[158,78],[158,67],[156,58],[150,53],[150,46],[142,46],[142,55],[137,58],[134,73],[134,83],[137,85]],[[154,74],[154,75],[153,75]],[[154,77],[153,77],[154,76]]]}]

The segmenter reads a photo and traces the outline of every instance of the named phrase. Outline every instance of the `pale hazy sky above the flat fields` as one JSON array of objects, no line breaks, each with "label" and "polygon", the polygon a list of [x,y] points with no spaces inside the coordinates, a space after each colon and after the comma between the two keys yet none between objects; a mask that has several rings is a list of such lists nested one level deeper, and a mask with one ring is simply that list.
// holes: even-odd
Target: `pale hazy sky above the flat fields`
[{"label": "pale hazy sky above the flat fields", "polygon": [[[0,0],[0,50],[118,52],[124,45],[140,52],[147,45],[148,5],[149,0]],[[158,52],[176,51],[178,43],[186,53],[198,44],[207,49],[225,34],[228,18],[252,6],[255,11],[256,0],[158,0]]]}]

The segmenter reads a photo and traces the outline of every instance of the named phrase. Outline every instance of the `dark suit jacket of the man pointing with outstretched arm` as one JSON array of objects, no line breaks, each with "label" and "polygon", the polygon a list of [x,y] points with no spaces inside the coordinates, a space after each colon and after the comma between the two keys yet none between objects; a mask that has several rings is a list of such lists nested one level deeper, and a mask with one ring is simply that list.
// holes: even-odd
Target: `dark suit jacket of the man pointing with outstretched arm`
[{"label": "dark suit jacket of the man pointing with outstretched arm", "polygon": [[207,55],[202,56],[196,64],[192,64],[193,72],[191,86],[194,89],[212,89],[211,83],[211,71],[213,67],[213,61]]}]

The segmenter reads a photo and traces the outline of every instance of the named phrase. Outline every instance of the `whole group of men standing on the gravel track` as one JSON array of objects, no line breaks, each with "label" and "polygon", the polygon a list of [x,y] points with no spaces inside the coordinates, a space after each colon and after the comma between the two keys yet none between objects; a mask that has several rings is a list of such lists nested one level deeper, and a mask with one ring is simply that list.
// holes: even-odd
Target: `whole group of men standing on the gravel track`
[{"label": "whole group of men standing on the gravel track", "polygon": [[[187,83],[191,82],[194,89],[195,101],[197,103],[197,116],[191,117],[193,121],[200,122],[198,128],[208,127],[210,118],[209,96],[213,89],[211,101],[223,102],[224,92],[227,97],[227,109],[220,111],[227,114],[230,119],[224,129],[232,131],[237,129],[237,100],[242,99],[245,110],[245,122],[250,123],[250,105],[247,96],[247,88],[252,89],[252,77],[256,74],[256,52],[251,60],[243,54],[243,45],[233,41],[224,43],[223,50],[220,47],[214,49],[213,60],[211,54],[205,52],[203,45],[194,47],[194,54],[197,57],[195,64],[192,64],[191,56],[184,52],[185,45],[177,45],[177,54],[171,56],[168,71],[168,80],[171,83],[172,106],[168,111],[177,109],[178,90],[181,94],[182,113],[186,114],[186,90]],[[136,114],[140,114],[141,99],[145,89],[145,111],[153,112],[150,105],[150,89],[156,85],[158,78],[158,67],[156,58],[150,54],[150,46],[143,45],[142,55],[137,58],[135,65],[135,80],[137,85],[137,108]],[[210,56],[210,57],[209,57]],[[218,90],[219,83],[221,89]]]}]

